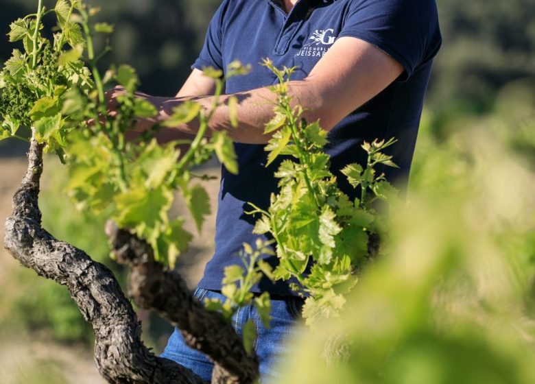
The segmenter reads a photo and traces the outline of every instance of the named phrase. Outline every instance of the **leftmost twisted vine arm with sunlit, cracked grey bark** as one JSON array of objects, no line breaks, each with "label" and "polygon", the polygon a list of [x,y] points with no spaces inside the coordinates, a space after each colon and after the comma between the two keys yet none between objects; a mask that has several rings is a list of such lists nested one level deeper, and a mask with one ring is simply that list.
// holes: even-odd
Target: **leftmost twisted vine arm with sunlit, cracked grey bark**
[{"label": "leftmost twisted vine arm with sunlit, cracked grey bark", "polygon": [[43,147],[32,140],[29,166],[5,221],[5,248],[25,267],[65,285],[95,331],[95,363],[110,383],[201,384],[190,370],[156,357],[141,341],[141,323],[104,265],[41,228],[38,208]]}]

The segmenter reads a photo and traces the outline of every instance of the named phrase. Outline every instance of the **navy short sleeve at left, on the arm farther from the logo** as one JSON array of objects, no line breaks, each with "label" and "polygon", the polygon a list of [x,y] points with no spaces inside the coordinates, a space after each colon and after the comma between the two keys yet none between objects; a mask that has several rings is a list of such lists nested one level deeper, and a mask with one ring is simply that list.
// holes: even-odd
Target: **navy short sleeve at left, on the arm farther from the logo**
[{"label": "navy short sleeve at left, on the arm farther from the logo", "polygon": [[204,45],[202,46],[199,57],[191,66],[191,69],[202,70],[204,67],[223,69],[222,35],[226,8],[228,8],[227,0],[219,5],[219,8],[217,8],[217,11],[213,15],[208,30],[206,31]]}]

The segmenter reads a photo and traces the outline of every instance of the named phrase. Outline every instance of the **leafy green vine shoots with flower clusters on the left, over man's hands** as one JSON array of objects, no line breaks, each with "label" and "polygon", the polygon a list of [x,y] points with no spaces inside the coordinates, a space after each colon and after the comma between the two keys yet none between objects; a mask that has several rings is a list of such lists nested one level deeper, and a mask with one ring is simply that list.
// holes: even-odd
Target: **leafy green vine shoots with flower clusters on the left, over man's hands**
[{"label": "leafy green vine shoots with flower clusters on the left, over man's hands", "polygon": [[[35,14],[17,19],[10,25],[14,49],[0,75],[0,139],[23,137],[21,126],[32,128],[34,138],[45,152],[58,154],[67,164],[67,193],[78,208],[103,211],[121,228],[130,228],[154,250],[157,261],[171,267],[176,257],[187,249],[192,235],[182,228],[184,219],[169,212],[174,191],[180,190],[198,230],[210,212],[209,197],[191,173],[215,154],[229,171],[236,173],[233,143],[226,132],[204,138],[225,78],[221,71],[206,69],[217,84],[214,104],[209,111],[199,104],[186,102],[174,110],[166,125],[198,119],[200,130],[180,153],[178,142],[158,145],[155,133],[162,125],[154,124],[139,139],[127,140],[127,132],[136,119],[152,118],[157,111],[137,91],[139,78],[128,65],[113,66],[104,75],[99,70],[102,52],[95,51],[95,34],[110,34],[112,25],[92,23],[98,8],[80,0],[58,0],[47,9],[38,1]],[[57,32],[51,40],[41,34],[43,18],[56,16]],[[244,74],[246,67],[231,65],[227,77]],[[117,97],[117,112],[108,112],[105,89],[123,86]],[[233,108],[235,100],[229,105]],[[182,141],[182,143],[185,143]],[[88,150],[89,149],[89,150]]]}]

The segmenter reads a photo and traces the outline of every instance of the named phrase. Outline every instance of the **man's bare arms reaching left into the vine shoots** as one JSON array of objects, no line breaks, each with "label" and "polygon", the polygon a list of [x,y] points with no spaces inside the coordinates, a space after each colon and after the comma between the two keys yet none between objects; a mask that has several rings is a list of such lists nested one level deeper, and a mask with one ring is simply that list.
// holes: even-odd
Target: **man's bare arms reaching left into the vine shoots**
[{"label": "man's bare arms reaching left into the vine shoots", "polygon": [[[342,37],[335,41],[305,80],[289,82],[289,94],[294,98],[294,103],[306,108],[304,117],[307,121],[320,119],[322,128],[331,130],[350,112],[396,80],[402,72],[401,64],[377,47],[364,40]],[[213,92],[213,86],[213,80],[194,70],[177,96],[191,98],[188,96],[206,94]],[[223,105],[213,115],[209,130],[227,130],[238,143],[267,143],[269,136],[264,135],[263,130],[265,123],[274,115],[272,102],[276,96],[268,88],[256,88],[235,95],[240,100],[237,108],[238,127],[232,127],[228,108]],[[173,108],[182,103],[183,99],[178,97],[150,97],[150,101],[158,108],[160,121],[167,119]],[[223,95],[221,101],[227,97],[230,95]],[[206,109],[213,104],[211,96],[193,99]],[[195,134],[197,130],[198,122],[192,121],[165,130],[163,134],[169,139],[173,132],[180,136],[178,132]]]}]

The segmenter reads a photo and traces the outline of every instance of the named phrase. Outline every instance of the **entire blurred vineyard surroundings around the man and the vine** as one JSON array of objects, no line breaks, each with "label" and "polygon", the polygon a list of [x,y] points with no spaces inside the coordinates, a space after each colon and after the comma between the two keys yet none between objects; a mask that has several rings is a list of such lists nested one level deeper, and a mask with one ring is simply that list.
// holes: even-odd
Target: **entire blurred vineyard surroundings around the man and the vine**
[{"label": "entire blurred vineyard surroundings around the man and the vine", "polygon": [[[35,3],[2,0],[3,33]],[[143,91],[174,95],[219,3],[91,1],[102,6],[99,19],[115,25],[103,68],[128,62]],[[310,376],[290,372],[287,383],[535,383],[535,2],[438,6],[444,42],[409,204],[394,209],[392,257],[371,267],[340,322],[325,325],[329,337],[309,338],[294,354],[296,364],[310,367],[327,343],[350,364],[319,370],[328,376],[294,369]],[[0,60],[11,49],[0,38]],[[23,176],[24,151],[24,143],[0,143],[1,222]],[[217,165],[206,171],[217,175]],[[55,158],[47,159],[43,180],[45,228],[122,278],[108,258],[105,217],[75,211]],[[217,187],[217,180],[209,185],[214,203]],[[179,265],[192,286],[211,255],[212,235],[213,218]],[[150,313],[140,317],[145,341],[160,352],[169,326]],[[91,348],[91,329],[67,291],[0,250],[0,383],[100,383]]]}]

